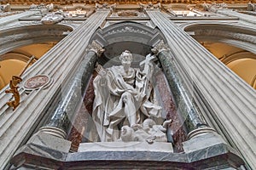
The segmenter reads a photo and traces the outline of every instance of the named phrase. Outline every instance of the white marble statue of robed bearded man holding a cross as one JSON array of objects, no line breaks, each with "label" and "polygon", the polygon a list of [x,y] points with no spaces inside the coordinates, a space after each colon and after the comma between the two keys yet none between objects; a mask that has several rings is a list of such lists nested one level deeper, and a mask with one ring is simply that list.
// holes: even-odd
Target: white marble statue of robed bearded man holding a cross
[{"label": "white marble statue of robed bearded man holding a cross", "polygon": [[161,117],[151,82],[154,55],[148,54],[140,63],[143,71],[131,68],[130,51],[125,50],[119,59],[122,65],[108,69],[96,65],[92,118],[102,142],[117,141],[123,126],[137,128],[148,117]]}]

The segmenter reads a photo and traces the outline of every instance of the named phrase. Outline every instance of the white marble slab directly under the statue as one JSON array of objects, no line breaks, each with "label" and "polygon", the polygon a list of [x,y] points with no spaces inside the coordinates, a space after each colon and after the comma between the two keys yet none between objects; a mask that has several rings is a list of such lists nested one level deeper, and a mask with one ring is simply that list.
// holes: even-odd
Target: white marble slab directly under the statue
[{"label": "white marble slab directly under the statue", "polygon": [[78,152],[84,151],[158,151],[173,152],[172,143],[154,142],[95,142],[79,144]]}]

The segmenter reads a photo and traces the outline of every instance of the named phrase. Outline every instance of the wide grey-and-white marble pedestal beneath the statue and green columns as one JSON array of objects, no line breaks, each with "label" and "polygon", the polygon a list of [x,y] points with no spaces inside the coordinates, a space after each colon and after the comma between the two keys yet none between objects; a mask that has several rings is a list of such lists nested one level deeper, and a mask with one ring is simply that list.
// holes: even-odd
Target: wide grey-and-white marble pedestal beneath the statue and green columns
[{"label": "wide grey-and-white marble pedestal beneath the statue and green columns", "polygon": [[38,133],[16,152],[11,163],[14,168],[32,169],[237,169],[244,165],[236,150],[218,139],[203,147],[203,135],[189,139],[193,141],[187,141],[182,153],[173,153],[172,144],[143,142],[80,144],[79,152],[70,153],[69,141]]}]

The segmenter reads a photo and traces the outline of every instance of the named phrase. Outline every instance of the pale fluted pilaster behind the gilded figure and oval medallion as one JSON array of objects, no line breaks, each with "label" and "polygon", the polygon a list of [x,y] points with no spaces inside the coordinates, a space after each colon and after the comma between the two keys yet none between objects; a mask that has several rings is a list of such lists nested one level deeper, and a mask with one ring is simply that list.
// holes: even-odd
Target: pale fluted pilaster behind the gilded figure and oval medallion
[{"label": "pale fluted pilaster behind the gilded figure and oval medallion", "polygon": [[97,10],[78,28],[49,50],[38,62],[32,65],[22,76],[26,81],[35,75],[47,75],[53,81],[48,88],[32,90],[30,94],[20,88],[20,105],[15,111],[5,105],[11,94],[0,92],[0,169],[6,167],[20,144],[25,144],[28,137],[38,126],[40,119],[55,98],[56,92],[64,82],[70,80],[73,71],[86,54],[85,48],[90,37],[102,25],[109,9]]}]

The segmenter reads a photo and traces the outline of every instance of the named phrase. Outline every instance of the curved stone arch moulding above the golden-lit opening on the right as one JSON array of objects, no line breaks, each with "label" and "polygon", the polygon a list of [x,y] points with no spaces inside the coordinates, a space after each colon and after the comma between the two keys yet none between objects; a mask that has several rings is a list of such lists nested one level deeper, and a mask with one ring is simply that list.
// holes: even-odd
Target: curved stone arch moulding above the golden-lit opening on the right
[{"label": "curved stone arch moulding above the golden-lit opening on the right", "polygon": [[197,41],[223,42],[256,54],[256,29],[220,22],[197,22],[181,26]]}]

